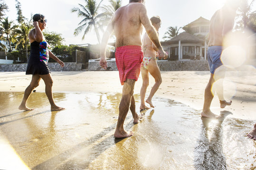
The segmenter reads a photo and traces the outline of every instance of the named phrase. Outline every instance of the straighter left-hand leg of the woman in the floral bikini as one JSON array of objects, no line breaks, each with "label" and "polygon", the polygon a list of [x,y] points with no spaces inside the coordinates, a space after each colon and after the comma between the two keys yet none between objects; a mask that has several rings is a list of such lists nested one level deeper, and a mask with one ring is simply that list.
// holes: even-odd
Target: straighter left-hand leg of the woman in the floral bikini
[{"label": "straighter left-hand leg of the woman in the floral bikini", "polygon": [[140,96],[141,96],[140,110],[150,109],[149,107],[147,107],[145,105],[145,95],[146,95],[147,87],[149,85],[149,71],[142,68],[141,74],[142,74],[142,88],[141,88],[141,92],[140,92]]}]

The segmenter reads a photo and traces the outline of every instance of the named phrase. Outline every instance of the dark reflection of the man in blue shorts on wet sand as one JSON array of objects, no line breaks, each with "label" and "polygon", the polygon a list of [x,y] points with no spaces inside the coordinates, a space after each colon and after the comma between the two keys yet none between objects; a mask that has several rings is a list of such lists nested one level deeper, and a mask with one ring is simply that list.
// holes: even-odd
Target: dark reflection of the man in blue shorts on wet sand
[{"label": "dark reflection of the man in blue shorts on wet sand", "polygon": [[226,170],[226,158],[222,150],[222,122],[224,119],[218,120],[218,124],[213,129],[209,138],[210,119],[202,119],[202,129],[198,143],[195,148],[195,169],[196,170]]}]

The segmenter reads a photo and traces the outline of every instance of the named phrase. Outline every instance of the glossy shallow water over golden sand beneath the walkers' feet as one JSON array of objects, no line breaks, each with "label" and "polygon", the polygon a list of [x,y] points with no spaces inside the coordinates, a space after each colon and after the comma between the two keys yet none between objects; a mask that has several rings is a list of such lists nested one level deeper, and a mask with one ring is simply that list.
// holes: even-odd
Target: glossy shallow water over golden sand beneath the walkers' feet
[{"label": "glossy shallow water over golden sand beneath the walkers' feet", "polygon": [[134,136],[115,139],[120,93],[54,93],[62,111],[50,111],[37,92],[28,100],[35,110],[20,111],[22,97],[0,93],[0,145],[33,170],[256,169],[256,142],[246,137],[255,120],[228,118],[229,111],[221,120],[201,119],[200,110],[154,98],[155,109],[142,111],[140,123],[128,112],[124,127]]}]

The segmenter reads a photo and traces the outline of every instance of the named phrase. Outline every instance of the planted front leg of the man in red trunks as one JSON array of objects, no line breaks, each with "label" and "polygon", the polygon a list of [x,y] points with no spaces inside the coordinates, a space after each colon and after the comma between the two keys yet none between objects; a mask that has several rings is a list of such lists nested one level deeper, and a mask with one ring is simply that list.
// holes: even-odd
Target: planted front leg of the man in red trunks
[{"label": "planted front leg of the man in red trunks", "polygon": [[[114,137],[122,138],[122,137],[130,137],[133,136],[133,132],[126,132],[123,129],[123,123],[128,113],[130,102],[133,96],[133,89],[134,89],[135,80],[134,79],[126,79],[123,85],[123,94],[122,99],[119,104],[119,116],[116,125],[116,129],[114,132]],[[134,98],[133,98],[134,99]],[[135,105],[135,101],[134,101]],[[135,106],[134,106],[135,108]]]}]

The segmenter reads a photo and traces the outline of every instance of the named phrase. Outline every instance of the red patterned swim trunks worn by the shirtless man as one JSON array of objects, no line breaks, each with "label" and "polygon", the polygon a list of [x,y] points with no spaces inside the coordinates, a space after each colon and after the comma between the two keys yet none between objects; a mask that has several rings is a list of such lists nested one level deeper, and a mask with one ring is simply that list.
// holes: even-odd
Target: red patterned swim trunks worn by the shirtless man
[{"label": "red patterned swim trunks worn by the shirtless man", "polygon": [[142,66],[142,47],[128,45],[116,48],[115,62],[119,71],[121,85],[128,79],[138,80]]}]

